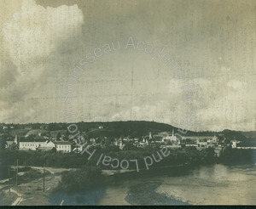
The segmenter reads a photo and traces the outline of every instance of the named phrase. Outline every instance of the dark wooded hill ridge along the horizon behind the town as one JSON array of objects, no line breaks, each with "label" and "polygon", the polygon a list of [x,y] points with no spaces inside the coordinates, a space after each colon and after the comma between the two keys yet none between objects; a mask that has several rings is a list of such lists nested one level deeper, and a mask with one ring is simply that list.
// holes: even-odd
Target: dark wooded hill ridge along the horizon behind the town
[{"label": "dark wooded hill ridge along the horizon behind the town", "polygon": [[[79,131],[85,133],[89,138],[100,138],[100,137],[127,137],[131,138],[142,137],[148,135],[151,132],[154,136],[164,137],[172,134],[172,125],[155,122],[155,121],[106,121],[106,122],[77,122]],[[32,127],[38,127],[41,124],[31,124]],[[99,128],[102,127],[102,128]],[[174,132],[177,132],[178,127],[173,127]],[[61,134],[67,133],[66,123],[49,123],[50,133],[54,136],[56,133]],[[42,129],[32,128],[29,133],[42,132],[47,133],[48,131]],[[11,135],[15,134],[24,136],[28,133],[25,129],[16,129],[10,132]],[[184,136],[213,136],[214,132],[192,132],[188,131]],[[256,132],[240,132],[225,129],[222,132],[216,133],[224,136],[228,141],[237,139],[241,141],[254,141]]]}]

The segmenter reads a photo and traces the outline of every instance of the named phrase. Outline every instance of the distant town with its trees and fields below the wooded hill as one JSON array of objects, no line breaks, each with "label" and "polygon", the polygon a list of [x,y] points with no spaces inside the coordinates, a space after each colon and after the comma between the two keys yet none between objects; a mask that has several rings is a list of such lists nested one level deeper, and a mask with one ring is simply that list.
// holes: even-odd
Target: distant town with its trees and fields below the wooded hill
[{"label": "distant town with its trees and fields below the wooded hill", "polygon": [[[86,131],[82,131],[81,135],[90,146],[115,147],[119,150],[136,150],[144,147],[167,147],[170,149],[184,149],[186,147],[195,147],[197,150],[212,147],[215,155],[221,155],[226,146],[233,149],[256,149],[256,145],[244,145],[241,138],[231,137],[229,140],[225,138],[224,133],[202,133],[193,134],[191,136],[184,135],[180,138],[177,134],[177,128],[172,127],[172,131],[148,131],[148,134],[142,136],[109,136],[104,135],[104,131],[108,131],[108,127],[96,123],[93,131],[102,133],[99,137],[90,137]],[[97,126],[99,125],[99,126]],[[56,128],[56,127],[55,127]],[[54,129],[55,129],[54,128]],[[63,127],[62,127],[63,128]],[[83,145],[74,143],[75,138],[71,138],[67,129],[50,130],[48,124],[43,125],[1,125],[0,138],[5,149],[9,150],[34,150],[34,151],[55,151],[62,153],[80,153],[84,148]],[[91,132],[91,130],[89,131]],[[116,134],[113,134],[116,135]],[[132,135],[132,134],[131,134]],[[86,146],[87,146],[86,145]]]}]

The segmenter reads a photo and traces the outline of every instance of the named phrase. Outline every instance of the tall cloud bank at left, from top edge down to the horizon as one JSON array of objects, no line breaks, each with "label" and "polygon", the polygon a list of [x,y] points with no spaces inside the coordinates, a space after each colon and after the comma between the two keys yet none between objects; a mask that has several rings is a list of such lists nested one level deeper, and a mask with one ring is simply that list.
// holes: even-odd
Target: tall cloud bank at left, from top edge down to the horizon
[{"label": "tall cloud bank at left, from top edge down to the horizon", "polygon": [[[79,36],[83,23],[84,15],[76,4],[44,8],[33,0],[22,1],[20,11],[2,28],[0,46],[7,57],[0,57],[0,64],[4,66],[1,76],[9,81],[8,86],[4,81],[0,86],[2,121],[13,121],[20,116],[20,121],[24,122],[34,116],[32,112],[36,110],[31,110],[35,108],[27,101],[27,96],[49,71],[50,56],[57,55],[57,48],[69,39]],[[24,100],[26,103],[22,102]],[[20,111],[27,114],[20,114]]]}]

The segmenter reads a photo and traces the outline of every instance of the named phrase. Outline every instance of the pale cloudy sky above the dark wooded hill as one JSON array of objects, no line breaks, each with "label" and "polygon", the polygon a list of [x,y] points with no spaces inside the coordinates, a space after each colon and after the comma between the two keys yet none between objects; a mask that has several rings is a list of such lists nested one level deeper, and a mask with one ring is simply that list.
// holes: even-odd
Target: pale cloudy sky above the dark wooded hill
[{"label": "pale cloudy sky above the dark wooded hill", "polygon": [[[0,122],[65,121],[73,112],[74,121],[186,127],[185,117],[192,130],[256,130],[256,1],[2,0],[0,10]],[[183,76],[125,49],[129,37],[165,48]],[[61,103],[77,63],[111,42],[120,49],[96,58],[72,102]]]}]

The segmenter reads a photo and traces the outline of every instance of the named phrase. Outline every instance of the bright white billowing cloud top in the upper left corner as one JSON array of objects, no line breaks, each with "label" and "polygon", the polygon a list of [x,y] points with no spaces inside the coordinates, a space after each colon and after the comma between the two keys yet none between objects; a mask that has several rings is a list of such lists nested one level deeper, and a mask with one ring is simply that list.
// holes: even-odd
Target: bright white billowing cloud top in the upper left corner
[{"label": "bright white billowing cloud top in the upper left corner", "polygon": [[[3,25],[3,40],[18,69],[49,55],[61,42],[80,31],[83,14],[77,5],[44,8],[23,0],[20,12]],[[34,69],[31,69],[35,71]]]}]

